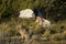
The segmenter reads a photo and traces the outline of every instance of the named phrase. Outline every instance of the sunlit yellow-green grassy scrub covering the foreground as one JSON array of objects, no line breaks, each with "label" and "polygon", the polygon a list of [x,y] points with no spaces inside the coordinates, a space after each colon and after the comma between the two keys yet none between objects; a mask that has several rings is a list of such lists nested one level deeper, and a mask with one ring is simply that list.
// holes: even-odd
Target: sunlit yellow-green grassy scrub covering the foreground
[{"label": "sunlit yellow-green grassy scrub covering the foreground", "polygon": [[[32,41],[32,44],[66,44],[65,42],[66,41],[66,21],[59,21],[57,23],[54,22],[50,31],[46,31],[46,33],[44,31],[43,34],[40,34],[38,32],[42,30],[42,28],[38,25],[35,26],[34,20],[31,20],[31,19],[15,20],[13,18],[10,21],[0,23],[0,43],[1,44],[24,43],[15,28],[18,24],[24,25],[30,31],[30,33],[32,33],[33,30],[35,30],[37,34],[35,34],[36,36],[33,36],[33,37],[37,37],[37,40],[34,38]],[[47,37],[46,42],[45,40],[41,40],[41,37],[45,37],[45,36]]]}]

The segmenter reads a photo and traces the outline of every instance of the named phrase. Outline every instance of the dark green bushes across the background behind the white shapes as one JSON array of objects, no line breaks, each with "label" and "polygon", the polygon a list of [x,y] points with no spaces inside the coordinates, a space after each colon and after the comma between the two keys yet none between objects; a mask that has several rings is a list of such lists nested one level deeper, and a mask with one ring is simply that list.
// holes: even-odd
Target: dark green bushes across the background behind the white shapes
[{"label": "dark green bushes across the background behind the white shapes", "polygon": [[[0,19],[2,16],[14,16],[22,9],[40,8],[46,19],[55,21],[65,20],[66,18],[65,0],[1,0],[0,1]],[[44,12],[45,11],[45,12]]]}]

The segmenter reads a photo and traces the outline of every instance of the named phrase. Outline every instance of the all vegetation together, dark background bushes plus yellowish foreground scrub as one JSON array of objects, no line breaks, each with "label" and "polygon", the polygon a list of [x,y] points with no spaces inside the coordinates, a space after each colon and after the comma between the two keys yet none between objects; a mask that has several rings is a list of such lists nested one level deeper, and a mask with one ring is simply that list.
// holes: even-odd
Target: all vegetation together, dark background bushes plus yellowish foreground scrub
[{"label": "all vegetation together, dark background bushes plus yellowish foreground scrub", "polygon": [[[40,8],[44,18],[51,20],[51,30],[37,25],[34,19],[19,19],[19,11],[30,8],[34,10]],[[45,12],[44,12],[45,11]],[[52,44],[57,41],[66,41],[66,1],[65,0],[0,0],[0,42],[1,44],[22,44],[23,41],[16,30],[21,24],[28,29],[28,32],[35,37],[32,44],[44,44],[44,41],[51,41]],[[31,37],[31,40],[33,38]],[[46,40],[42,40],[47,37]],[[43,41],[43,42],[41,42]],[[56,42],[53,42],[56,41]],[[48,44],[46,42],[46,44]],[[57,43],[59,44],[59,43]]]}]

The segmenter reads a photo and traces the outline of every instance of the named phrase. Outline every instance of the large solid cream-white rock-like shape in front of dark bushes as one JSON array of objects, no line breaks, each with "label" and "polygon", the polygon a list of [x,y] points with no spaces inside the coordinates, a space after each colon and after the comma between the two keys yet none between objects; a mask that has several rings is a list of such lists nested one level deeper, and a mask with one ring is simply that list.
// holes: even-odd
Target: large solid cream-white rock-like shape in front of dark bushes
[{"label": "large solid cream-white rock-like shape in front of dark bushes", "polygon": [[25,19],[33,18],[33,10],[31,9],[21,10],[19,18],[25,18]]}]

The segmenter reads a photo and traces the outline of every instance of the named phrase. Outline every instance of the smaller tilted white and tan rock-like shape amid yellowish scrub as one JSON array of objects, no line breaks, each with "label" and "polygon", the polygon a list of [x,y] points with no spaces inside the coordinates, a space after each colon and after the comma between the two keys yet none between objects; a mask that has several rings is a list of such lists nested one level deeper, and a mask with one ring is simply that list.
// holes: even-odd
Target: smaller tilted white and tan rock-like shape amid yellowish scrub
[{"label": "smaller tilted white and tan rock-like shape amid yellowish scrub", "polygon": [[36,18],[35,22],[38,23],[44,29],[50,29],[51,28],[51,22],[48,20],[42,19],[40,16]]}]

